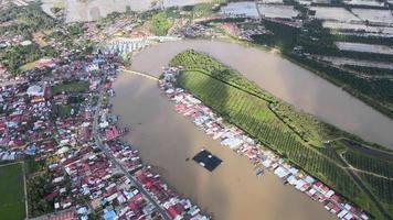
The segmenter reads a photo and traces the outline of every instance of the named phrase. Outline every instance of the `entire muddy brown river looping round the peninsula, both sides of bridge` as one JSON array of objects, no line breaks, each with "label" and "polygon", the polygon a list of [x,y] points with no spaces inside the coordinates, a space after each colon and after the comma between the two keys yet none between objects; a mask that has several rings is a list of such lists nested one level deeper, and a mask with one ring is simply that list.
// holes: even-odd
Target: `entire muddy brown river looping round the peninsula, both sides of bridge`
[{"label": "entire muddy brown river looping round the peninsula, both sides of bridge", "polygon": [[[240,70],[276,97],[368,141],[393,146],[393,122],[340,88],[276,54],[220,41],[181,41],[151,46],[137,54],[132,69],[159,76],[179,52],[194,48]],[[123,73],[114,84],[114,113],[126,136],[163,179],[220,220],[333,219],[322,205],[253,165],[199,131],[176,113],[157,82]],[[192,160],[202,147],[223,160],[213,173]]]}]

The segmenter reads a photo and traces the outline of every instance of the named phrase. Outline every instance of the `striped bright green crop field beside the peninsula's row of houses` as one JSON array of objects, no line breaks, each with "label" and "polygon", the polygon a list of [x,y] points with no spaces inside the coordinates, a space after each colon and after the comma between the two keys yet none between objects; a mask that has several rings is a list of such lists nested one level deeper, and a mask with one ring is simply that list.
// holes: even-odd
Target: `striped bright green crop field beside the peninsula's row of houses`
[{"label": "striped bright green crop field beside the peninsula's row of houses", "polygon": [[347,197],[363,196],[334,160],[306,146],[275,118],[266,101],[247,95],[199,72],[184,72],[179,84],[221,116],[284,155],[309,174],[320,178]]}]

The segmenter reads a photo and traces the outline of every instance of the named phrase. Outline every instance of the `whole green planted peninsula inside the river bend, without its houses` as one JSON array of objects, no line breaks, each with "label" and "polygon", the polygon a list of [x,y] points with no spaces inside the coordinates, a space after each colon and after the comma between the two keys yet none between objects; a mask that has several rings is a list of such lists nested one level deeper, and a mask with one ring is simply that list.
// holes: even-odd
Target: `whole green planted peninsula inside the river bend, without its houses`
[{"label": "whole green planted peninsula inside the river bend, without its houses", "polygon": [[376,219],[393,216],[393,164],[378,156],[383,153],[393,157],[389,150],[295,111],[205,54],[184,51],[170,65],[184,68],[177,86],[262,145],[370,210]]}]

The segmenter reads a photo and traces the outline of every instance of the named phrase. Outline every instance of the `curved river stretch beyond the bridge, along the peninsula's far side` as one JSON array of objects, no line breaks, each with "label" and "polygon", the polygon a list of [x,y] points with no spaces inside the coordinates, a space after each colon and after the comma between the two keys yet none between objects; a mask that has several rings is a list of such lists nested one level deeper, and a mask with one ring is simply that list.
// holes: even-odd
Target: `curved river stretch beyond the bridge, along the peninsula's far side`
[{"label": "curved river stretch beyond the bridge, along the peninsula's far side", "polygon": [[223,41],[167,42],[137,54],[132,69],[159,76],[162,67],[187,48],[208,53],[296,108],[393,150],[393,120],[274,53]]}]

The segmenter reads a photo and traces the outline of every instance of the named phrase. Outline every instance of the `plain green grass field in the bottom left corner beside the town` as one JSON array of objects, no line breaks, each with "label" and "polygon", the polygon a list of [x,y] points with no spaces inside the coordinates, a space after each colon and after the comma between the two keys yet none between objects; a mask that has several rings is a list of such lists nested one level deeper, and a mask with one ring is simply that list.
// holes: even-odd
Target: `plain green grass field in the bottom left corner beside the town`
[{"label": "plain green grass field in the bottom left corner beside the town", "polygon": [[0,166],[0,219],[25,217],[22,166],[21,163]]}]

